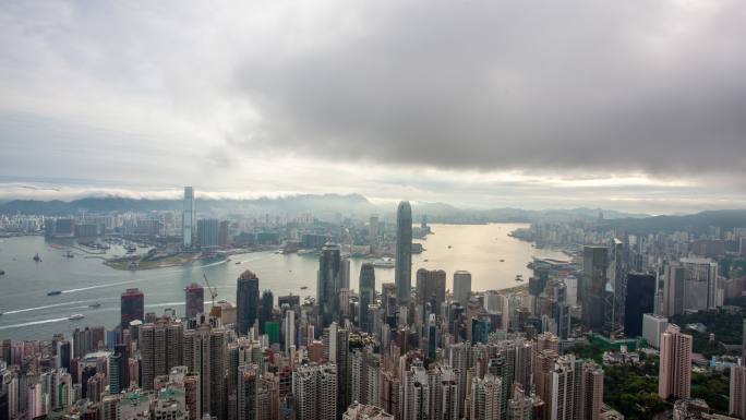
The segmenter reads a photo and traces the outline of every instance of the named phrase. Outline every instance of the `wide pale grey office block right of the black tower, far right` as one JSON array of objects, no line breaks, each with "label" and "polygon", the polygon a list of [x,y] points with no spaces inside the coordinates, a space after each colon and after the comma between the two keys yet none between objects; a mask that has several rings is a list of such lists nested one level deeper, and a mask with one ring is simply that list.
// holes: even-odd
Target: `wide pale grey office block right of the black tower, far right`
[{"label": "wide pale grey office block right of the black tower, far right", "polygon": [[718,263],[710,259],[681,259],[686,269],[684,309],[715,309],[723,304],[723,290],[718,287]]}]

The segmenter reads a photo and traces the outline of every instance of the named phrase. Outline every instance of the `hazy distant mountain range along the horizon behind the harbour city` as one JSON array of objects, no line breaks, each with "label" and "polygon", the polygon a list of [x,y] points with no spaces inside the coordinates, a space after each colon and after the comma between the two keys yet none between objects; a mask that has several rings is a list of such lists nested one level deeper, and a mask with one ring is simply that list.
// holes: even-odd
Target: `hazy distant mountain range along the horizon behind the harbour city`
[{"label": "hazy distant mountain range along the horizon behind the harbour city", "polygon": [[[378,214],[393,218],[395,203],[374,204],[360,194],[303,194],[277,199],[253,200],[196,200],[200,214],[227,216],[231,214],[286,214],[298,216],[313,214],[320,219],[333,220],[337,215],[368,218]],[[182,209],[181,200],[124,199],[117,196],[87,197],[73,201],[13,200],[0,203],[0,214],[26,214],[44,216],[67,216],[81,213],[113,212],[161,212]],[[432,223],[530,223],[537,219],[597,219],[603,213],[604,219],[636,219],[646,215],[627,214],[600,208],[526,211],[520,208],[471,209],[459,208],[445,203],[413,202],[414,220],[428,215]]]}]

